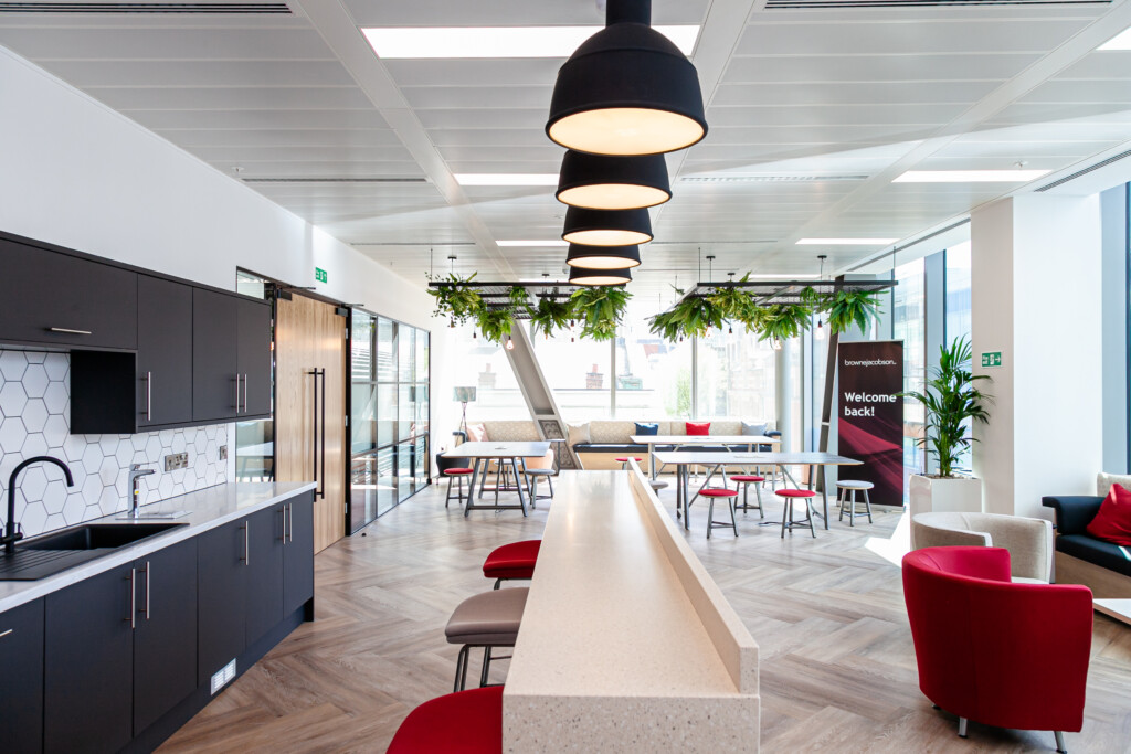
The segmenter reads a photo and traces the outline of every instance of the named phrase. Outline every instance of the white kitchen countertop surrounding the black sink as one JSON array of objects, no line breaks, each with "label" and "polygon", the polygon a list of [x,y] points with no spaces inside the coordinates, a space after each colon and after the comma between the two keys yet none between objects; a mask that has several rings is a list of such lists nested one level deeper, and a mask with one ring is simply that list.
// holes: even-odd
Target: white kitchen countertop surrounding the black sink
[{"label": "white kitchen countertop surrounding the black sink", "polygon": [[[150,505],[143,505],[141,510],[146,513],[189,511],[189,515],[172,520],[144,519],[143,523],[179,523],[181,526],[136,544],[120,547],[103,557],[80,563],[61,573],[37,581],[0,581],[0,613],[53,591],[59,591],[98,573],[104,573],[123,563],[145,557],[149,553],[196,537],[204,531],[269,508],[314,487],[313,482],[241,482],[216,485]],[[84,523],[129,523],[128,521],[119,521],[114,518],[115,515],[118,513]]]}]

